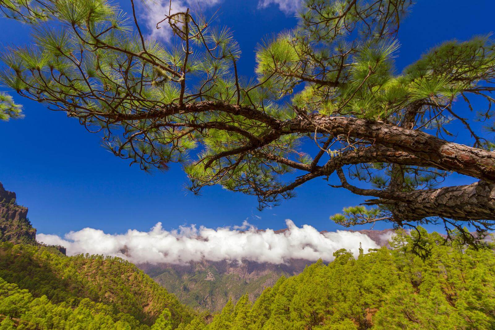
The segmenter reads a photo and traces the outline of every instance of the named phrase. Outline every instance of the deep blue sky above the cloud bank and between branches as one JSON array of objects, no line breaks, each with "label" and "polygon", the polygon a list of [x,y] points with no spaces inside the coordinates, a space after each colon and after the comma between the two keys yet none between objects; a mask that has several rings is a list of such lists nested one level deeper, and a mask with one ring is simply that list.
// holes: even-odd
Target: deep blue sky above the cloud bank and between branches
[{"label": "deep blue sky above the cloud bank and between branches", "polygon": [[[129,12],[128,1],[120,2]],[[260,6],[258,0],[223,0],[204,6],[206,14],[219,8],[215,23],[234,31],[243,51],[239,71],[245,76],[253,73],[256,44],[296,24],[290,11],[265,2],[266,6]],[[278,2],[290,8],[291,1]],[[494,9],[491,0],[415,4],[400,28],[397,71],[442,41],[494,31]],[[0,30],[2,44],[29,42],[26,25],[1,18]],[[179,165],[172,165],[165,174],[148,175],[102,148],[100,137],[88,133],[77,120],[39,103],[15,99],[24,105],[26,117],[0,122],[0,182],[29,207],[29,218],[39,233],[63,235],[84,227],[108,233],[129,228],[146,231],[158,221],[167,230],[184,224],[218,227],[239,225],[246,219],[258,228],[280,229],[287,218],[298,226],[335,230],[339,227],[329,216],[362,201],[347,190],[329,188],[322,180],[307,183],[296,190],[296,198],[262,212],[256,210],[255,197],[220,187],[204,189],[196,197],[183,188],[186,177]],[[455,176],[448,184],[470,182]]]}]

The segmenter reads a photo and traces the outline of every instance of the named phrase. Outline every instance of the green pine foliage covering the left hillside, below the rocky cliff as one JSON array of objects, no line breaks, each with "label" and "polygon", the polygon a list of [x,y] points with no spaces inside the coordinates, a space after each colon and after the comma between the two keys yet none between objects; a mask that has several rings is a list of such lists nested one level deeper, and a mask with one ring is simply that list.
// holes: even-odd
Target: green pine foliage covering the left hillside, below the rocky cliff
[{"label": "green pine foliage covering the left hillside, below the rocky cliff", "polygon": [[[131,325],[133,322],[152,325],[155,319],[163,316],[165,308],[170,314],[167,320],[174,328],[181,322],[189,323],[192,318],[191,311],[174,295],[121,258],[100,255],[67,257],[54,248],[8,242],[0,243],[0,255],[0,278],[20,290],[15,295],[1,295],[0,306],[4,309],[0,314],[4,316],[31,322],[29,313],[33,309],[30,304],[43,305],[40,301],[45,301],[51,306],[49,308],[81,309],[88,320],[106,315],[105,318],[112,317],[115,322],[121,318],[129,319],[125,322]],[[94,305],[98,303],[105,310],[103,314],[91,312],[100,308]],[[97,314],[101,315],[97,317]],[[131,328],[135,329],[134,326]]]}]

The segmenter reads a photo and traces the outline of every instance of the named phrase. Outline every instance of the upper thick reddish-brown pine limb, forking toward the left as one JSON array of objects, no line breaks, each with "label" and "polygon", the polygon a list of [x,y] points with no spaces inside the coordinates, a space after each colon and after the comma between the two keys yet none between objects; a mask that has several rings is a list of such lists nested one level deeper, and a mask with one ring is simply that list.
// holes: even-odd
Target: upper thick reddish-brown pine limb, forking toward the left
[{"label": "upper thick reddish-brown pine limb, forking toward the left", "polygon": [[[251,137],[250,143],[215,155],[206,166],[215,159],[230,155],[252,151],[266,145],[283,135],[291,133],[327,133],[334,136],[345,135],[354,139],[363,139],[374,145],[391,148],[395,151],[403,151],[415,156],[422,161],[418,164],[416,160],[411,165],[430,166],[441,170],[453,171],[468,175],[488,183],[495,183],[495,153],[483,149],[470,147],[463,144],[452,143],[439,139],[433,135],[419,130],[407,129],[383,121],[371,121],[343,116],[309,115],[299,116],[292,120],[279,120],[264,112],[235,104],[225,102],[201,101],[186,104],[182,107],[169,106],[159,110],[151,110],[143,114],[102,114],[114,120],[137,120],[146,118],[165,118],[173,114],[225,112],[232,115],[243,116],[250,120],[262,122],[269,127],[263,136]],[[185,126],[188,126],[184,124]],[[209,124],[208,127],[214,127]],[[193,125],[194,126],[194,125]],[[204,125],[203,125],[204,126]],[[225,126],[225,125],[224,125]],[[205,126],[206,127],[206,126]],[[229,131],[227,127],[219,127]],[[239,128],[235,129],[237,133]]]}]

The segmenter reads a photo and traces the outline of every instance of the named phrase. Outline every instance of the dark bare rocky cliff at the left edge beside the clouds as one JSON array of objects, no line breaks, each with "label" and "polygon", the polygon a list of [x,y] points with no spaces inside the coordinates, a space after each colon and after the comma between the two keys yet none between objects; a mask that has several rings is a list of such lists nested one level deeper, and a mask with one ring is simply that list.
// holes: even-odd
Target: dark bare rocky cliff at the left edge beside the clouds
[{"label": "dark bare rocky cliff at the left edge beside the clouds", "polygon": [[13,243],[36,243],[36,229],[27,218],[27,207],[17,205],[15,192],[0,183],[0,240]]}]

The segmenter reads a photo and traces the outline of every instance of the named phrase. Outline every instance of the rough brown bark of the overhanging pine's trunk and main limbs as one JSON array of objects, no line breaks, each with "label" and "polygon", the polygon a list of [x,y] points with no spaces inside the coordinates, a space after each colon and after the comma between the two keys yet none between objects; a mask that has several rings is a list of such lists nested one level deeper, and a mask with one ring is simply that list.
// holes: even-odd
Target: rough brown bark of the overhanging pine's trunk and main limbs
[{"label": "rough brown bark of the overhanging pine's trunk and main limbs", "polygon": [[[376,196],[384,202],[395,203],[395,216],[410,220],[429,216],[440,216],[458,220],[494,219],[493,188],[495,184],[495,153],[483,149],[453,143],[436,136],[410,129],[414,126],[415,111],[412,109],[404,125],[392,125],[383,121],[352,118],[347,116],[326,116],[305,114],[298,111],[295,118],[268,114],[255,107],[241,106],[221,101],[200,101],[182,105],[166,105],[138,113],[95,113],[111,122],[139,121],[144,118],[154,119],[156,126],[183,127],[191,130],[219,129],[241,134],[246,139],[238,146],[208,156],[204,161],[206,168],[214,167],[221,158],[242,159],[246,154],[253,154],[306,172],[285,187],[263,189],[254,187],[253,191],[262,198],[283,194],[321,176],[329,176],[343,166],[384,162],[394,164],[393,179],[388,192],[376,189],[357,189],[345,187],[362,195]],[[299,113],[300,112],[300,113]],[[223,113],[228,116],[244,117],[262,125],[265,130],[259,135],[253,134],[242,125],[232,125],[219,121],[200,122],[185,120],[178,123],[175,115]],[[311,135],[326,134],[330,137],[345,137],[360,141],[357,149],[343,152],[332,157],[327,164],[318,166],[317,162],[302,164],[294,160],[281,158],[264,147],[289,134]],[[345,139],[344,139],[345,140]],[[320,152],[321,156],[321,152]],[[318,156],[317,156],[318,157]],[[231,159],[232,160],[232,159]],[[236,163],[234,161],[233,163]],[[444,188],[441,190],[417,190],[403,196],[403,166],[436,168],[448,172],[457,172],[480,180],[469,186]],[[402,178],[402,179],[401,179]],[[344,187],[344,186],[343,186]],[[476,187],[476,188],[474,188]],[[357,190],[356,190],[357,189]],[[377,192],[378,191],[378,192]],[[490,192],[488,192],[490,191]],[[402,196],[403,198],[399,198]]]}]

